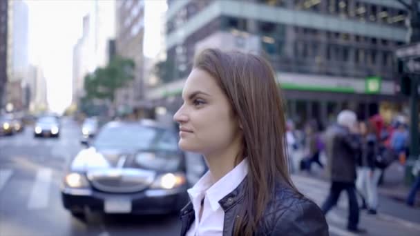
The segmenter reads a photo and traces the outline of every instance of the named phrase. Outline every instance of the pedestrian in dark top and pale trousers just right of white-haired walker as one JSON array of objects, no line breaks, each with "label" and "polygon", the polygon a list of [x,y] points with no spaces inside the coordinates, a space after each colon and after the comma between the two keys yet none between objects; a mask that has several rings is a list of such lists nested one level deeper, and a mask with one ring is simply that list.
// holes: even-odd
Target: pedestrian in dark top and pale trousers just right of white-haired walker
[{"label": "pedestrian in dark top and pale trousers just right of white-haired walker", "polygon": [[363,196],[362,209],[367,209],[368,214],[375,215],[378,207],[378,182],[382,170],[375,164],[379,155],[379,137],[375,126],[365,122],[365,130],[361,133],[360,167],[357,172],[356,188]]}]

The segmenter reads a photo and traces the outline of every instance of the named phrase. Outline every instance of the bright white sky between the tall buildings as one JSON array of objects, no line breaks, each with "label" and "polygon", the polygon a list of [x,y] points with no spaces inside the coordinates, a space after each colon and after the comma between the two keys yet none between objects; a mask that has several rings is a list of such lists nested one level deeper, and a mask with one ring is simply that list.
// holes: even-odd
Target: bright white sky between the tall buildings
[{"label": "bright white sky between the tall buildings", "polygon": [[[100,0],[110,1],[110,0]],[[63,112],[71,103],[73,47],[82,37],[82,19],[88,14],[90,0],[25,0],[29,8],[29,61],[40,66],[47,82],[50,110]],[[150,6],[150,7],[149,7]],[[160,48],[153,43],[160,37],[155,25],[159,12],[166,10],[163,0],[146,1],[145,50],[153,57]],[[155,25],[155,26],[153,26]]]}]

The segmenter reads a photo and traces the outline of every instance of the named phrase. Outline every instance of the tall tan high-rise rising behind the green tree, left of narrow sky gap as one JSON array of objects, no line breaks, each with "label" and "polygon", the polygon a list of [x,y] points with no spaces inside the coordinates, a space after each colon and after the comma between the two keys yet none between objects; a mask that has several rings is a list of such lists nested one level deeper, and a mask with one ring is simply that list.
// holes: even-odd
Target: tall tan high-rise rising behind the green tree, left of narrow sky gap
[{"label": "tall tan high-rise rising behind the green tree, left of narrow sky gap", "polygon": [[137,110],[144,106],[144,104],[142,104],[144,98],[144,0],[116,1],[115,20],[115,46],[117,55],[133,59],[135,62],[134,80],[126,87],[117,90],[115,105],[117,112],[137,113]]}]

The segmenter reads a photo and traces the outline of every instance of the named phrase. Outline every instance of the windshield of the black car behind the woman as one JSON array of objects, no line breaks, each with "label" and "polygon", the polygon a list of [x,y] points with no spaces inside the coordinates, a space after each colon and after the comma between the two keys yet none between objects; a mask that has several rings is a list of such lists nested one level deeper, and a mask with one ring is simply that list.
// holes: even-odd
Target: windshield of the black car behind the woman
[{"label": "windshield of the black car behind the woman", "polygon": [[137,124],[111,124],[105,126],[93,142],[96,148],[131,150],[178,150],[175,134],[163,128]]}]

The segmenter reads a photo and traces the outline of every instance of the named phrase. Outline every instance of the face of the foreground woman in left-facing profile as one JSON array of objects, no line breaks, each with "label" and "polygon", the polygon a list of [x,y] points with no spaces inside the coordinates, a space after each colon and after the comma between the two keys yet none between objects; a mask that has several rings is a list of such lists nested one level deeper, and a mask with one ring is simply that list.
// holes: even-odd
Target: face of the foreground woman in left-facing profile
[{"label": "face of the foreground woman in left-facing profile", "polygon": [[206,155],[224,150],[240,137],[238,119],[226,95],[204,70],[194,68],[182,90],[184,104],[173,119],[180,124],[182,150]]}]

